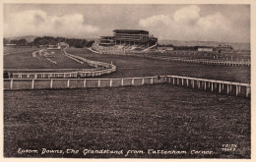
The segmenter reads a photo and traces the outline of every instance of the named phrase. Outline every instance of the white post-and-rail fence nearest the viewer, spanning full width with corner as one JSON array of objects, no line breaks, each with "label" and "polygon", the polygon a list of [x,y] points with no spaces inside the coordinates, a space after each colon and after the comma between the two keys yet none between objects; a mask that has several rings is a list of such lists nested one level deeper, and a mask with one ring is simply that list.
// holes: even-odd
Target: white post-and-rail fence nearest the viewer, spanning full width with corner
[{"label": "white post-and-rail fence nearest the viewer, spanning full width with corner", "polygon": [[251,85],[249,83],[214,81],[179,76],[155,76],[124,79],[7,79],[4,80],[4,89],[113,87],[156,83],[169,83],[235,96],[249,97],[251,94]]}]

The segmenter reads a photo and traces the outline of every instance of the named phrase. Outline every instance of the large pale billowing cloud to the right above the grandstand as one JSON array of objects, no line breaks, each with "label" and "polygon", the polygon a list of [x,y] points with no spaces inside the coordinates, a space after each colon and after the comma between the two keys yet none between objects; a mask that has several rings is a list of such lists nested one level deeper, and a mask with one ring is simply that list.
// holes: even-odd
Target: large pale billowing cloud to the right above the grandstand
[{"label": "large pale billowing cloud to the right above the grandstand", "polygon": [[172,15],[141,19],[139,26],[151,30],[160,39],[220,41],[233,34],[231,24],[221,13],[202,16],[196,5],[180,8]]}]

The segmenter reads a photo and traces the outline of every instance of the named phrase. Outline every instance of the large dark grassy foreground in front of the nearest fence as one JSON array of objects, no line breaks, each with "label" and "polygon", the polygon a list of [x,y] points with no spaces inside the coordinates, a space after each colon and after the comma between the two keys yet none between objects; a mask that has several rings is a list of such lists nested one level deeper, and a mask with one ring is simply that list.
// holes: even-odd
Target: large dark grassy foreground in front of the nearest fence
[{"label": "large dark grassy foreground in front of the nearest fence", "polygon": [[[127,157],[249,158],[250,100],[169,84],[6,91],[5,156],[125,157],[84,149],[143,150]],[[237,144],[222,152],[223,144]],[[19,154],[19,148],[78,149],[76,155]],[[151,155],[148,149],[186,150]],[[212,155],[192,155],[211,150]]]}]

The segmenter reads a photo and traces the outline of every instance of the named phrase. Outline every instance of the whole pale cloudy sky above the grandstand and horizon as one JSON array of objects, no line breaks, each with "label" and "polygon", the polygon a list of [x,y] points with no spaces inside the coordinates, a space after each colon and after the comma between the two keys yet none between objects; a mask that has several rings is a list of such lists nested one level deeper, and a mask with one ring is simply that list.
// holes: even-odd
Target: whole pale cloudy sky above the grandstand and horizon
[{"label": "whole pale cloudy sky above the grandstand and horizon", "polygon": [[4,37],[98,38],[144,29],[160,40],[250,42],[249,5],[4,4]]}]

